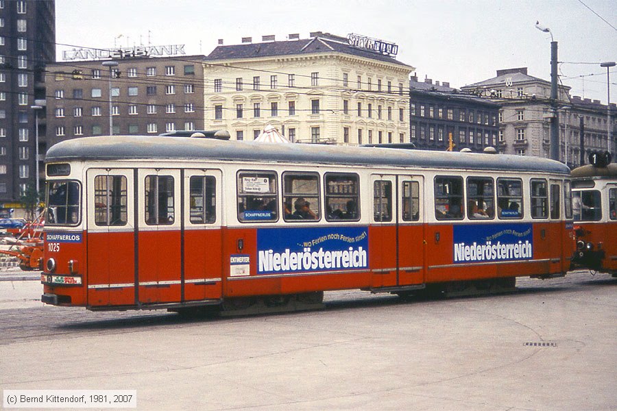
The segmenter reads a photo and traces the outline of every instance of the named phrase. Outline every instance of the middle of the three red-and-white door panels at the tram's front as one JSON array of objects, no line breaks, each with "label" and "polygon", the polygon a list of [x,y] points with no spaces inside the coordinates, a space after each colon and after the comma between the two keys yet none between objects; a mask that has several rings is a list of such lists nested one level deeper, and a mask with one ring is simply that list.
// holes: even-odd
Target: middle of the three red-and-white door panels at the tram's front
[{"label": "middle of the three red-and-white door panels at the tram's front", "polygon": [[138,169],[137,279],[140,303],[182,298],[180,170]]}]

